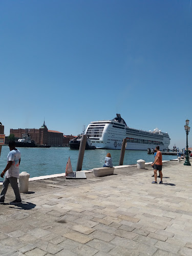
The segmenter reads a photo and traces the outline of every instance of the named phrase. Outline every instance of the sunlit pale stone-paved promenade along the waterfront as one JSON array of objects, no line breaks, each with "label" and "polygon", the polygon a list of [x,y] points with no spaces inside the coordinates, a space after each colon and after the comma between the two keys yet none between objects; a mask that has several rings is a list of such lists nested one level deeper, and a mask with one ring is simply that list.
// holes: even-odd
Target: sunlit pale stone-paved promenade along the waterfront
[{"label": "sunlit pale stone-paved promenade along the waterfront", "polygon": [[191,256],[192,166],[165,162],[164,184],[151,184],[152,172],[30,181],[22,204],[0,205],[0,255]]}]

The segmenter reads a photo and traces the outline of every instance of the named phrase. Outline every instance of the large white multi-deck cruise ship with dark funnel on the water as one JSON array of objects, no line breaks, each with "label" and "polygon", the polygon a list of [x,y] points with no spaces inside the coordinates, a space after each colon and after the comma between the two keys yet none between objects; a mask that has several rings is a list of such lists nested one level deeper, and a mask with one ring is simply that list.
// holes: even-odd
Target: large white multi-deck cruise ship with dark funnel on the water
[{"label": "large white multi-deck cruise ship with dark funnel on the water", "polygon": [[159,145],[160,150],[165,150],[170,144],[167,133],[162,133],[158,128],[154,131],[142,131],[126,125],[120,114],[112,120],[91,122],[85,134],[90,138],[96,148],[120,150],[122,140],[126,138],[126,150],[147,150]]}]

